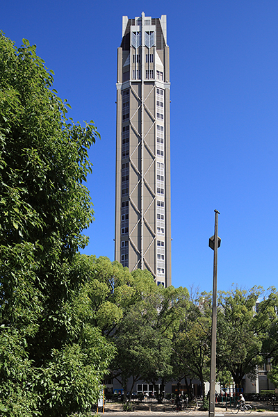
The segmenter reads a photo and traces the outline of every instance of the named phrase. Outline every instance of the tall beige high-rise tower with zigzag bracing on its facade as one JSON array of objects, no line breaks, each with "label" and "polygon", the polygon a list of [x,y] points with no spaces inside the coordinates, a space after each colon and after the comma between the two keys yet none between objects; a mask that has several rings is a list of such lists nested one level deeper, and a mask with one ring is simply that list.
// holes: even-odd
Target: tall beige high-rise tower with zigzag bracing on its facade
[{"label": "tall beige high-rise tower with zigzag bracing on its facade", "polygon": [[171,285],[166,16],[122,17],[117,49],[115,259]]}]

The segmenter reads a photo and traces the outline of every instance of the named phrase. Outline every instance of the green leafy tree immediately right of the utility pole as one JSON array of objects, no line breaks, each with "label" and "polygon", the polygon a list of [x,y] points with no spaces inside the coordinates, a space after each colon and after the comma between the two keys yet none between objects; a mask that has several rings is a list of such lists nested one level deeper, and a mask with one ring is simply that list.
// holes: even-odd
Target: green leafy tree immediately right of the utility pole
[{"label": "green leafy tree immediately right of the utility pole", "polygon": [[256,301],[263,295],[261,287],[250,291],[234,288],[218,296],[218,370],[229,370],[236,386],[244,375],[256,376],[256,367],[263,360],[262,332],[268,318],[256,312]]}]

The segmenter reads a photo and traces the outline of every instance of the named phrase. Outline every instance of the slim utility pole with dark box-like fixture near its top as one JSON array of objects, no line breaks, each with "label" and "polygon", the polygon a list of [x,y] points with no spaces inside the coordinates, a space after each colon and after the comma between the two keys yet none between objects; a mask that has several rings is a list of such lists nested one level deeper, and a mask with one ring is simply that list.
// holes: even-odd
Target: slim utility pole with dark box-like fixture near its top
[{"label": "slim utility pole with dark box-like fixture near its top", "polygon": [[215,416],[215,368],[216,368],[216,324],[217,324],[217,266],[218,266],[218,247],[221,239],[218,237],[218,214],[215,210],[214,236],[208,240],[208,246],[214,251],[213,256],[213,314],[211,329],[211,380],[209,388],[209,417]]}]

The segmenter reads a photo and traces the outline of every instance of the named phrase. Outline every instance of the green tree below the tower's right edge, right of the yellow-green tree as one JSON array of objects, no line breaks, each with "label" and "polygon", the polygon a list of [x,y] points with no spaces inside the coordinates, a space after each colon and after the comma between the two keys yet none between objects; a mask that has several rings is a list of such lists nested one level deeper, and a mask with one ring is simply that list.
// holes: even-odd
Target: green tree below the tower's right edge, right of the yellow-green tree
[{"label": "green tree below the tower's right edge, right of the yellow-green tree", "polygon": [[[137,270],[132,275],[139,278],[143,272]],[[122,383],[124,393],[128,379],[132,378],[129,400],[138,379],[153,385],[161,380],[161,391],[156,393],[161,400],[164,384],[172,377],[172,336],[188,302],[188,292],[185,288],[157,287],[150,274],[148,280],[140,279],[137,286],[139,282],[141,295],[117,329],[113,373]]]}]

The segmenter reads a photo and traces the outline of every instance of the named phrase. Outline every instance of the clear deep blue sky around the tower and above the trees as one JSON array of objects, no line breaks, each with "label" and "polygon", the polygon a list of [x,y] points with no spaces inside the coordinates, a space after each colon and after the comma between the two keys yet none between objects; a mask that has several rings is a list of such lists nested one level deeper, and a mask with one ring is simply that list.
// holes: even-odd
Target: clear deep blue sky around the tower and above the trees
[{"label": "clear deep blue sky around the tower and above the trees", "polygon": [[172,284],[277,285],[278,1],[1,1],[0,28],[37,44],[75,121],[94,120],[87,254],[114,259],[116,56],[122,15],[167,15],[171,75]]}]

